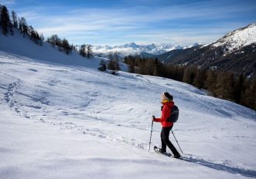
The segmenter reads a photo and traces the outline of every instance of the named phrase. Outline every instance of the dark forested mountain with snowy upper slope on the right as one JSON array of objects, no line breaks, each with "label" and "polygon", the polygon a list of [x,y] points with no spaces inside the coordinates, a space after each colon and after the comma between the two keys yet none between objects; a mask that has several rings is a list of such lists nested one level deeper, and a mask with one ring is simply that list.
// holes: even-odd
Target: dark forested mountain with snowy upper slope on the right
[{"label": "dark forested mountain with snowy upper slope on the right", "polygon": [[256,23],[229,32],[209,45],[174,49],[155,57],[180,66],[193,65],[255,75]]}]

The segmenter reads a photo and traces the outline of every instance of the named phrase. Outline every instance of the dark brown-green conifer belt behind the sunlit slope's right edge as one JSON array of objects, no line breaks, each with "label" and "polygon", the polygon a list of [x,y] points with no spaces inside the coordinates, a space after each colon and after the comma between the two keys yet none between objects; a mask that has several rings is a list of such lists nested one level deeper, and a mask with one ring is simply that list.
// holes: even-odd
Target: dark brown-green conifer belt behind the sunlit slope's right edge
[{"label": "dark brown-green conifer belt behind the sunlit slope's right edge", "polygon": [[126,56],[129,73],[162,76],[189,83],[199,89],[208,90],[213,96],[256,110],[256,78],[244,74],[214,69],[200,69],[197,66],[176,66],[163,64],[158,59]]}]

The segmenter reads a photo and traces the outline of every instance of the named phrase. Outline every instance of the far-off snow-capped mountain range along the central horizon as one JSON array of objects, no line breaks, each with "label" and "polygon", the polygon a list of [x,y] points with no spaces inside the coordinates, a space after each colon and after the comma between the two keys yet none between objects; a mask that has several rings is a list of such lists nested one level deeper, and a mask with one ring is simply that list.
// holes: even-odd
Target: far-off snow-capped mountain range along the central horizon
[{"label": "far-off snow-capped mountain range along the central horizon", "polygon": [[[198,46],[198,43],[194,43],[192,46]],[[110,52],[118,52],[121,57],[128,55],[140,55],[142,53],[150,53],[152,55],[159,55],[165,52],[169,52],[173,49],[186,49],[191,46],[174,46],[171,44],[149,44],[138,45],[135,42],[127,43],[122,46],[94,46],[93,52],[95,55],[108,56]]]}]

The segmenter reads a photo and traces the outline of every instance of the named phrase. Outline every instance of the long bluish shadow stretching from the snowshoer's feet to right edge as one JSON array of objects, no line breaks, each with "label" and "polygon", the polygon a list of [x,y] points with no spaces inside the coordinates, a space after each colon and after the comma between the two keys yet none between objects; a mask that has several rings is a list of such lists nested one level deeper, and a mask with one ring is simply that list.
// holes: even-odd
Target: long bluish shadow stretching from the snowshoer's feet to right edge
[{"label": "long bluish shadow stretching from the snowshoer's feet to right edge", "polygon": [[207,160],[193,158],[193,157],[182,157],[181,159],[193,164],[200,164],[200,165],[203,165],[204,167],[210,167],[218,171],[227,171],[231,174],[241,174],[244,177],[256,177],[256,171],[251,171],[251,170],[238,168],[238,167],[230,167],[224,164],[216,164]]}]

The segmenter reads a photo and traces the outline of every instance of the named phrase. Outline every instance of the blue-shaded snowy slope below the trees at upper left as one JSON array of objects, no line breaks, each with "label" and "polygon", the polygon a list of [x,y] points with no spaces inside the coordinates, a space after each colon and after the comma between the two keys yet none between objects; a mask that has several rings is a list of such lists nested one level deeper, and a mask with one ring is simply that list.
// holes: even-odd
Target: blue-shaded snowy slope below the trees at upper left
[{"label": "blue-shaded snowy slope below the trees at upper left", "polygon": [[[0,34],[0,51],[63,65],[87,66],[91,68],[99,67],[101,59],[104,61],[108,60],[101,57],[87,59],[80,56],[77,52],[67,55],[46,42],[43,42],[43,46],[37,46],[29,38],[23,37],[17,30],[15,30],[13,36]],[[121,69],[127,71],[127,66],[121,63]]]}]

